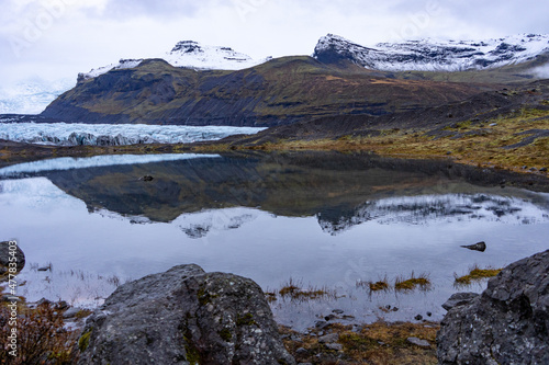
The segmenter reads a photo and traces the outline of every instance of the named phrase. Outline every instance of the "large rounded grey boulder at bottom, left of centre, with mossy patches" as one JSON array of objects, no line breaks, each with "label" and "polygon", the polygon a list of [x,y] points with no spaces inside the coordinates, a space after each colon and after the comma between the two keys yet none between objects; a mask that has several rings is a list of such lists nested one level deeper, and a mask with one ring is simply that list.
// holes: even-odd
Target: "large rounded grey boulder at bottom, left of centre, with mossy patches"
[{"label": "large rounded grey boulder at bottom, left of centre, with mossy patches", "polygon": [[120,286],[78,347],[78,364],[295,364],[261,288],[197,265]]}]

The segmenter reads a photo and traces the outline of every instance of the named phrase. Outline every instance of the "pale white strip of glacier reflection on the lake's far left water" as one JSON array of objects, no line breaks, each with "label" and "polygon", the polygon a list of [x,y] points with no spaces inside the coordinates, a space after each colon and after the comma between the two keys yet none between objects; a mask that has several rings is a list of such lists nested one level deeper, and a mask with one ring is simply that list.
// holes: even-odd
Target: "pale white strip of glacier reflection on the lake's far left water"
[{"label": "pale white strip of glacier reflection on the lake's far left water", "polygon": [[57,159],[18,163],[0,169],[0,176],[16,176],[41,171],[99,168],[119,164],[138,164],[161,161],[190,160],[195,158],[219,158],[219,155],[166,153],[166,155],[107,155],[93,157],[61,157]]}]

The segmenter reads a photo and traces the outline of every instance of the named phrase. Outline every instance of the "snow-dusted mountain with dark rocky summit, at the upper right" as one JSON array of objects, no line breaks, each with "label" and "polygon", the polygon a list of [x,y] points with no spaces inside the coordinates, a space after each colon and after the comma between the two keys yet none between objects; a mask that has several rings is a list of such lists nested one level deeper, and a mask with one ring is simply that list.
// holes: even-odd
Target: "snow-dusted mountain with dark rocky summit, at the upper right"
[{"label": "snow-dusted mountain with dark rocky summit, at the upper right", "polygon": [[313,57],[323,62],[350,60],[383,71],[464,71],[520,64],[549,53],[549,35],[517,35],[488,41],[408,41],[365,47],[328,34]]}]

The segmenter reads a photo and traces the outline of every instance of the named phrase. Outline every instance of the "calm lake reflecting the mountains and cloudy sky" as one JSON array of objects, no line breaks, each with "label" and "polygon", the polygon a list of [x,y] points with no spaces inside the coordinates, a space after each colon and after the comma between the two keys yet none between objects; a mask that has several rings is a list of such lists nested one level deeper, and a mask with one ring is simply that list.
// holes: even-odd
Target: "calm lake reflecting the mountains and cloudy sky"
[{"label": "calm lake reflecting the mountains and cloudy sky", "polygon": [[[301,330],[334,309],[344,322],[440,320],[452,293],[485,287],[456,276],[549,247],[549,194],[368,153],[101,156],[0,168],[0,221],[25,252],[29,300],[96,307],[120,283],[195,263],[267,292],[323,289],[273,297],[276,319]],[[479,241],[484,252],[460,247]],[[394,288],[412,275],[430,284]],[[371,292],[378,281],[389,287]]]}]

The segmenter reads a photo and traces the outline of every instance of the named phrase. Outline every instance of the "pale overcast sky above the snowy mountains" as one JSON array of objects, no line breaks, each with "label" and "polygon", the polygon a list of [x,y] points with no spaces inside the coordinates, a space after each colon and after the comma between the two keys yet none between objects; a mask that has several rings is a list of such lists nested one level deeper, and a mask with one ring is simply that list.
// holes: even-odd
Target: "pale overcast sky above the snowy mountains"
[{"label": "pale overcast sky above the snowy mountains", "polygon": [[363,45],[549,33],[547,0],[0,0],[0,88],[161,55],[178,41],[254,58],[310,55],[334,33]]}]

